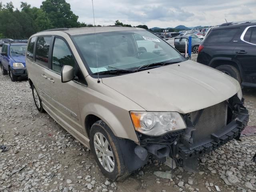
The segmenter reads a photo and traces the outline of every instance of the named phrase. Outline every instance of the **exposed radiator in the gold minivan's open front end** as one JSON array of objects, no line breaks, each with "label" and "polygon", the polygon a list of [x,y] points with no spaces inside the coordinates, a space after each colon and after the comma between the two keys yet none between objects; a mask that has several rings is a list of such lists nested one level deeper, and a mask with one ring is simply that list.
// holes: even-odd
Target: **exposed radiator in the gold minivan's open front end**
[{"label": "exposed radiator in the gold minivan's open front end", "polygon": [[[205,108],[195,125],[194,142],[211,138],[211,134],[220,130],[227,124],[227,105],[221,102],[214,106]],[[194,123],[200,110],[190,113],[190,119]]]}]

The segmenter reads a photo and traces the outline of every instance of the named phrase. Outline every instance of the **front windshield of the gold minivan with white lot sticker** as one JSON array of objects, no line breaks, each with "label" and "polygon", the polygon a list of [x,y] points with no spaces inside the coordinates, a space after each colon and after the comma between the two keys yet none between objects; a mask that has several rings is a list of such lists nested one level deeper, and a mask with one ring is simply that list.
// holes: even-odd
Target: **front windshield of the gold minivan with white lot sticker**
[{"label": "front windshield of the gold minivan with white lot sticker", "polygon": [[136,72],[153,65],[159,67],[159,63],[166,65],[186,60],[172,46],[146,30],[82,34],[72,39],[90,74],[113,70]]}]

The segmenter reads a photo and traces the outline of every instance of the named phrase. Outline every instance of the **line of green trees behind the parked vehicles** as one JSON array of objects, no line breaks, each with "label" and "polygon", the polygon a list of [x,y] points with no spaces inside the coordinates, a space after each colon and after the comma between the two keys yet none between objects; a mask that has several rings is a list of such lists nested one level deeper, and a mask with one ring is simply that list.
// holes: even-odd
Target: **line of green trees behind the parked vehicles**
[{"label": "line of green trees behind the parked vehicles", "polygon": [[[115,25],[132,27],[116,20]],[[51,28],[92,27],[93,24],[78,22],[78,16],[65,0],[44,0],[40,8],[20,2],[20,10],[12,2],[0,2],[0,38],[27,39],[36,32]],[[100,25],[98,25],[100,26]],[[146,25],[136,27],[145,28]]]}]

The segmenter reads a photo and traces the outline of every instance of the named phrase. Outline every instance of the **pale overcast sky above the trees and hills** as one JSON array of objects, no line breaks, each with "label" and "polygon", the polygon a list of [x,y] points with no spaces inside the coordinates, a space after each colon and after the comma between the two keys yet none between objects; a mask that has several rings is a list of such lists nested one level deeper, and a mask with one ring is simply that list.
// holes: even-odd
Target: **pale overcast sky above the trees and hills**
[{"label": "pale overcast sky above the trees and hills", "polygon": [[[1,1],[1,0],[0,0]],[[12,0],[15,8],[20,2],[40,7],[42,0]],[[3,4],[10,0],[2,0]],[[91,0],[66,0],[78,21],[93,23]],[[208,26],[225,22],[256,20],[256,0],[94,0],[95,22],[114,24],[119,20],[136,26],[175,27],[177,25]]]}]

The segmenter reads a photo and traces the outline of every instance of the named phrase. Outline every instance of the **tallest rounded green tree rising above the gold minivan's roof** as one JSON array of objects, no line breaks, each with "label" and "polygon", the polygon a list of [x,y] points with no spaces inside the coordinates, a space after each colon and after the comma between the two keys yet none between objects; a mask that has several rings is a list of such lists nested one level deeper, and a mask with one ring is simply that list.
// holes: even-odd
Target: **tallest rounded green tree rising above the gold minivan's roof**
[{"label": "tallest rounded green tree rising above the gold minivan's roof", "polygon": [[70,9],[65,0],[45,0],[40,8],[48,15],[54,28],[78,27],[78,16]]}]

